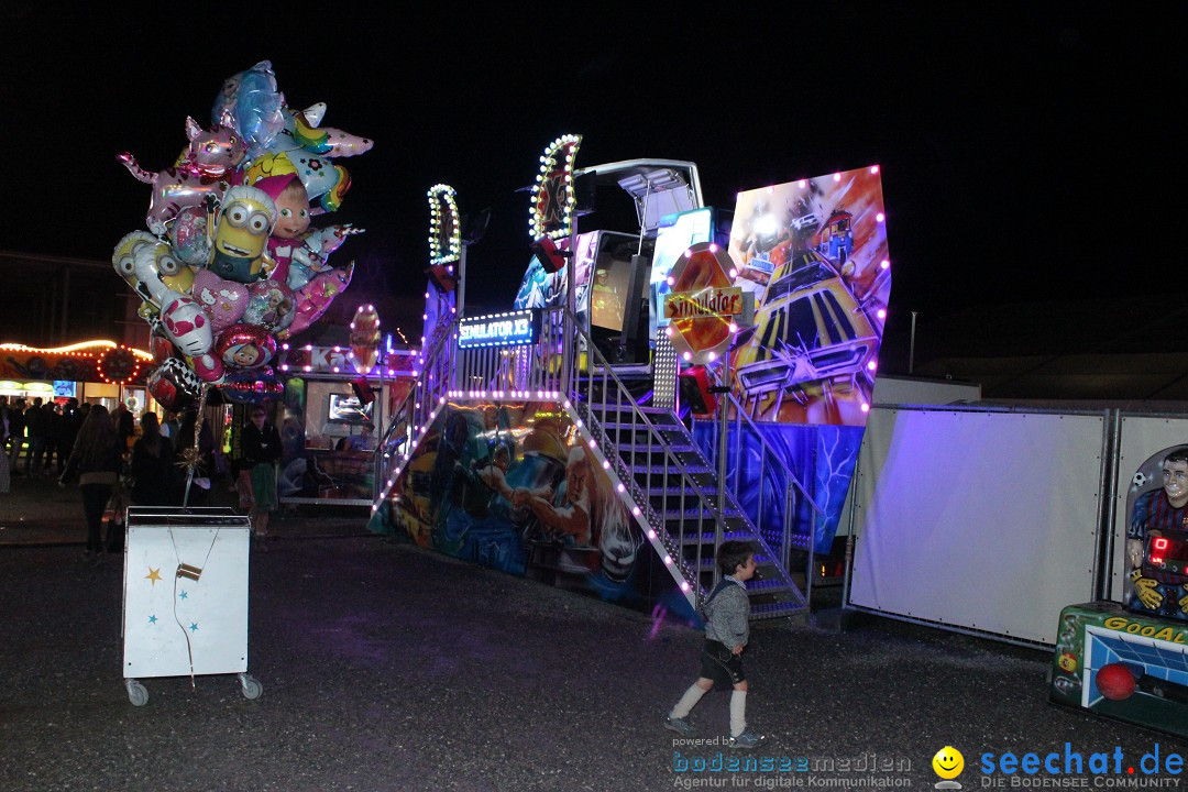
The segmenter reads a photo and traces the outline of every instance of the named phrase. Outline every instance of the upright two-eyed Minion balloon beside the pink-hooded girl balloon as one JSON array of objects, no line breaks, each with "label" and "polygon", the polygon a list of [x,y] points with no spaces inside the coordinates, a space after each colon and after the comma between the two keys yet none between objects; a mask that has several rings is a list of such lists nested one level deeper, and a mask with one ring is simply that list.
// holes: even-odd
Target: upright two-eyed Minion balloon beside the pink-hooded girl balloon
[{"label": "upright two-eyed Minion balloon beside the pink-hooded girl balloon", "polygon": [[276,222],[277,207],[264,190],[242,185],[227,190],[210,246],[210,271],[241,284],[267,278],[276,262],[265,246]]}]

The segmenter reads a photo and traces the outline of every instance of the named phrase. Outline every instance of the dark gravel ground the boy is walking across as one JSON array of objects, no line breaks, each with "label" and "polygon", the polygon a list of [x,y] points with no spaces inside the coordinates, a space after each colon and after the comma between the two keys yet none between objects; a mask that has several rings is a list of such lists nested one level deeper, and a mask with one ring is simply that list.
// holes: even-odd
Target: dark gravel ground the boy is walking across
[{"label": "dark gravel ground the boy is walking across", "polygon": [[[676,772],[713,767],[721,750],[661,728],[696,676],[700,633],[367,537],[278,540],[251,559],[260,698],[232,676],[194,689],[154,678],[134,708],[118,564],[86,565],[77,546],[7,546],[0,581],[10,792],[929,788],[947,745],[972,788],[987,780],[986,752],[1068,741],[1085,754],[1121,747],[1132,762],[1156,743],[1188,754],[1184,741],[1049,705],[1045,652],[867,619],[843,633],[753,631],[748,716],[770,735],[753,755],[776,768],[803,758],[807,772]],[[727,702],[702,699],[697,737],[727,730]],[[854,769],[885,761],[899,769]]]}]

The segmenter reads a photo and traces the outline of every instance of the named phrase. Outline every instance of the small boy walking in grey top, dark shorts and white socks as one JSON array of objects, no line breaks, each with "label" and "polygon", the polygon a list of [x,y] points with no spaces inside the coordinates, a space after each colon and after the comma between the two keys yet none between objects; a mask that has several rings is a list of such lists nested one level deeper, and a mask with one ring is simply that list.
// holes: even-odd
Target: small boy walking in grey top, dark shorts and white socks
[{"label": "small boy walking in grey top, dark shorts and white socks", "polygon": [[664,728],[682,736],[693,735],[689,711],[701,697],[716,688],[731,693],[731,748],[754,748],[763,735],[746,728],[746,676],[742,673],[742,648],[751,634],[751,601],[746,582],[754,576],[754,550],[745,541],[723,541],[718,549],[718,569],[722,581],[706,600],[706,645],[701,650],[701,677],[684,691]]}]

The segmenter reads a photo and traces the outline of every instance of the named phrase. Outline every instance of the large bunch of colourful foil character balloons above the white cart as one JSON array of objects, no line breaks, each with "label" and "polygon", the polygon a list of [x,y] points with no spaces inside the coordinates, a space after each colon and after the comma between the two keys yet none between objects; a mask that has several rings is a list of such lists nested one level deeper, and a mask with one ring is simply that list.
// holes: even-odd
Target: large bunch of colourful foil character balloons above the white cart
[{"label": "large bunch of colourful foil character balloons above the white cart", "polygon": [[354,262],[330,255],[362,229],[315,227],[342,204],[350,176],[335,160],[372,141],[323,126],[326,104],[292,109],[261,61],[228,78],[211,123],[185,120],[189,145],[157,172],[119,160],[152,195],[147,232],[112,264],[152,328],[153,398],[184,410],[204,387],[271,374],[278,342],[304,331],[349,285]]}]

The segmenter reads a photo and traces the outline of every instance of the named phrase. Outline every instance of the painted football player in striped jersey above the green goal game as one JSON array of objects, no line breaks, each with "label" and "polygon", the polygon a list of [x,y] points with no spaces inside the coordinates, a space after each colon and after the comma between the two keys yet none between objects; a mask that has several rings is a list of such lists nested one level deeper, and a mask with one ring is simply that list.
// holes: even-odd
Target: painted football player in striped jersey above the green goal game
[{"label": "painted football player in striped jersey above the green goal game", "polygon": [[1138,498],[1126,530],[1126,559],[1135,585],[1131,609],[1188,619],[1188,576],[1143,570],[1146,537],[1165,531],[1188,533],[1188,449],[1176,449],[1164,457],[1163,488]]}]

